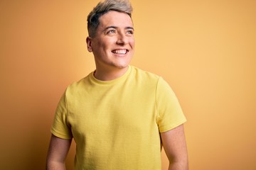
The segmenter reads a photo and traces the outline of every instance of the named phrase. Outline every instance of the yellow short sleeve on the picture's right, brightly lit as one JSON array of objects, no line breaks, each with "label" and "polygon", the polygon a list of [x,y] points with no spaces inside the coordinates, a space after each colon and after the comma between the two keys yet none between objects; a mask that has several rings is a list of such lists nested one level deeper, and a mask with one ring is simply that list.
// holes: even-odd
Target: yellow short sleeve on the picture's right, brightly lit
[{"label": "yellow short sleeve on the picture's right, brightly lit", "polygon": [[169,84],[161,77],[156,86],[156,108],[159,132],[166,132],[186,122],[178,98]]}]

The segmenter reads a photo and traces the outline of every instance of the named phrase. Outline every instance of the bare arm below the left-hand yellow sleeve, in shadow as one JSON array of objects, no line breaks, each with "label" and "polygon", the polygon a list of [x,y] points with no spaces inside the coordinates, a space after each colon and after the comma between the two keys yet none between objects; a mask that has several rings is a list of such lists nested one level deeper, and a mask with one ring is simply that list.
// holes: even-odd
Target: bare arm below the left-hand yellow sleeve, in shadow
[{"label": "bare arm below the left-hand yellow sleeve, in shadow", "polygon": [[46,170],[65,170],[65,159],[72,140],[63,140],[54,135],[50,138],[50,146],[46,159]]}]

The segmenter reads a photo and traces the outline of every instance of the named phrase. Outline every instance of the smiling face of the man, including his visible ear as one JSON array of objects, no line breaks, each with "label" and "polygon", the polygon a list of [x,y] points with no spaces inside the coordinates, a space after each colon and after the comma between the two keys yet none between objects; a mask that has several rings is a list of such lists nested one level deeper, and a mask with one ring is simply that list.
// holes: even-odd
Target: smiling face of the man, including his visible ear
[{"label": "smiling face of the man, including his visible ear", "polygon": [[109,11],[99,18],[94,38],[87,38],[87,49],[95,56],[96,69],[127,68],[134,55],[134,28],[127,13]]}]

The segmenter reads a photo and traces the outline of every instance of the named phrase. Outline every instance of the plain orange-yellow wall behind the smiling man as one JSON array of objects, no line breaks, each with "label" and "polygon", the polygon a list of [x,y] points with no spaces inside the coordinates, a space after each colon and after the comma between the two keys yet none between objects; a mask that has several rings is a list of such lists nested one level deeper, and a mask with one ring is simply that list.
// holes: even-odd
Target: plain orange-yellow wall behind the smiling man
[{"label": "plain orange-yellow wall behind the smiling man", "polygon": [[[44,169],[61,94],[95,68],[85,38],[96,4],[0,1],[0,169]],[[132,5],[132,64],[176,92],[188,119],[190,169],[256,169],[256,1]]]}]

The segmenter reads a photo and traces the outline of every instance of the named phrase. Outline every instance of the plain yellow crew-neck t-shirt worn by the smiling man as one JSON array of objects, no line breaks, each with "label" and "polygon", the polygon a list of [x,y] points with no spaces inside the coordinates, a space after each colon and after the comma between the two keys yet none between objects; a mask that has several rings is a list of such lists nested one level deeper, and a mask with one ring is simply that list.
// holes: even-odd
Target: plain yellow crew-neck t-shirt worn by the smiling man
[{"label": "plain yellow crew-neck t-shirt worn by the smiling man", "polygon": [[159,132],[185,121],[164,79],[129,66],[112,81],[90,73],[68,86],[51,132],[74,138],[76,170],[161,170]]}]

